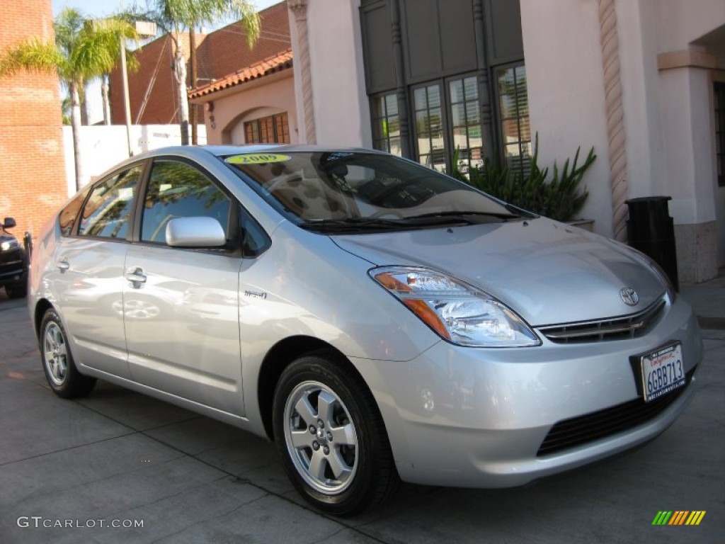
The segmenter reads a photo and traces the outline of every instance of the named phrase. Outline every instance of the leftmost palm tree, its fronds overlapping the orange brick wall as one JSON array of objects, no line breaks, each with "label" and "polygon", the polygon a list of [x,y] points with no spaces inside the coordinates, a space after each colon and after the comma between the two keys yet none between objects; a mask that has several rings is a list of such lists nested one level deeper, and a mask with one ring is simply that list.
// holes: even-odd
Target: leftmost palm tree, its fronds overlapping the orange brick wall
[{"label": "leftmost palm tree, its fronds overlapping the orange brick wall", "polygon": [[77,9],[65,8],[53,22],[55,41],[40,38],[12,46],[0,57],[0,76],[20,70],[57,72],[70,94],[75,186],[86,181],[80,161],[80,94],[86,82],[108,73],[119,58],[120,41],[137,39],[136,29],[117,18],[87,19]]}]

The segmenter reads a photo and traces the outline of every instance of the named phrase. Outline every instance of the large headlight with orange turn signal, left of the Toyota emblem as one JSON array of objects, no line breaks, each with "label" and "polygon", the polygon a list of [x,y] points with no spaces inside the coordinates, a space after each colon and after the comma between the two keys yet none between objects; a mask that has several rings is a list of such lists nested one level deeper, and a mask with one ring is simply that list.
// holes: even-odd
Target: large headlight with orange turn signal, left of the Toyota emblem
[{"label": "large headlight with orange turn signal, left of the Toyota emblem", "polygon": [[475,287],[428,268],[385,266],[370,276],[453,344],[525,347],[541,342],[510,308]]}]

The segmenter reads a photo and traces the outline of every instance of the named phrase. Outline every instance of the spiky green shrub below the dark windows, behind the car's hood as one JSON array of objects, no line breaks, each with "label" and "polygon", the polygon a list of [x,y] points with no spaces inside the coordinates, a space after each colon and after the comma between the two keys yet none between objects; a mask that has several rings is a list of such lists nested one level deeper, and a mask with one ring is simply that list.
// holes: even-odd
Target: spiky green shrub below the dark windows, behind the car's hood
[{"label": "spiky green shrub below the dark windows, behind the car's hood", "polygon": [[576,149],[571,164],[567,159],[561,170],[554,162],[549,181],[547,181],[549,168],[542,170],[537,162],[538,136],[534,141],[534,154],[529,159],[529,168],[523,169],[523,172],[518,168],[511,168],[506,162],[501,165],[498,160],[486,160],[482,167],[471,167],[466,176],[458,168],[458,150],[456,150],[451,176],[524,210],[556,221],[570,221],[587,201],[589,191],[586,187],[580,189],[579,184],[587,168],[597,158],[592,147],[584,163],[578,165],[580,149]]}]

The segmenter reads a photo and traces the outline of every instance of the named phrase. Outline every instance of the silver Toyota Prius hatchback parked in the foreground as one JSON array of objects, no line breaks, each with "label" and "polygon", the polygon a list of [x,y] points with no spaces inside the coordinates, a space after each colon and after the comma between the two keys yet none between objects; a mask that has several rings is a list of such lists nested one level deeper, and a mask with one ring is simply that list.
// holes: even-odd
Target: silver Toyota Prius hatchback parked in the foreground
[{"label": "silver Toyota Prius hatchback parked in the foreground", "polygon": [[103,379],[268,437],[332,514],[642,444],[703,356],[645,255],[365,149],[132,157],[49,221],[29,281],[59,396]]}]

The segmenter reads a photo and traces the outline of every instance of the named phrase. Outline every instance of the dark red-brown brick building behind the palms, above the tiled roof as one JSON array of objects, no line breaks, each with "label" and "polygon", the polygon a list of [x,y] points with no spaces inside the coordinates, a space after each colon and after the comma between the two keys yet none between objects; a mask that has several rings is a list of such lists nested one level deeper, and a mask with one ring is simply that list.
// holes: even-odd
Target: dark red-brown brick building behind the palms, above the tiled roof
[{"label": "dark red-brown brick building behind the palms, above the tiled roof", "polygon": [[[196,34],[197,75],[200,86],[210,83],[210,78],[223,78],[291,47],[286,1],[264,9],[260,12],[260,18],[262,33],[253,49],[247,46],[247,36],[237,22],[207,35]],[[182,36],[182,41],[188,59],[188,33]],[[141,51],[136,52],[136,57],[139,70],[128,75],[132,122],[136,123],[138,111],[149,88],[149,81],[155,72],[156,80],[139,122],[143,125],[178,123],[176,83],[171,70],[173,59],[171,38],[164,36],[146,44]],[[191,70],[188,67],[187,74],[191,77]],[[110,89],[112,123],[123,124],[125,114],[120,70],[111,73]],[[200,118],[199,122],[203,123],[203,120]]]}]

